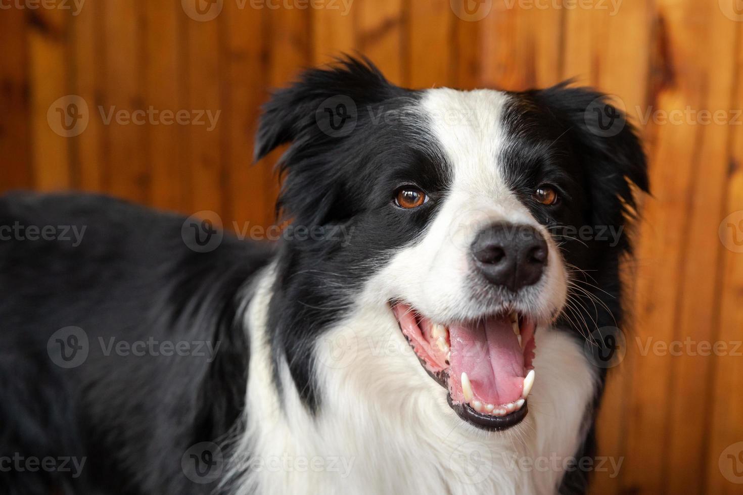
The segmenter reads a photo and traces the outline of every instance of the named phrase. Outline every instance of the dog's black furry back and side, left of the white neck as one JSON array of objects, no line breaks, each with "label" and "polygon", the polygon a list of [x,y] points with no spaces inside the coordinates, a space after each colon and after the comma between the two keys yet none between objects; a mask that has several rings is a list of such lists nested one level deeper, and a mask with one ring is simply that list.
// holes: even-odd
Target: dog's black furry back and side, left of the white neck
[{"label": "dog's black furry back and side, left of the white neck", "polygon": [[244,405],[232,330],[268,248],[196,252],[183,217],[94,195],[10,194],[0,226],[4,493],[209,490],[181,456]]}]

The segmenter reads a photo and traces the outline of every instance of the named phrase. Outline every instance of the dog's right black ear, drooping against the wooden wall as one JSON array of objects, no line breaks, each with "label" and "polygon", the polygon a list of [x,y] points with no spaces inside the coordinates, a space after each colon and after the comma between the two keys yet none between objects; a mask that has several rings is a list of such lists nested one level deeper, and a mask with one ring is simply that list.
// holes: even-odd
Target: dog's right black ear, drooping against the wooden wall
[{"label": "dog's right black ear, drooping against the wooden wall", "polygon": [[635,127],[609,96],[563,82],[534,92],[540,105],[562,121],[565,137],[583,163],[591,220],[594,225],[620,226],[635,215],[632,183],[649,192],[647,163]]}]

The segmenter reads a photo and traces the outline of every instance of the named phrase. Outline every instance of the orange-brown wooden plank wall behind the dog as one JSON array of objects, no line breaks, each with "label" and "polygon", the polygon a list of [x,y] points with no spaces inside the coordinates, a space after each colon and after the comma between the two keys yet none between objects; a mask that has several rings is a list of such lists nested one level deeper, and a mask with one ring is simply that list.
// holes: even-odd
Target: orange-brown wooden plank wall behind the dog
[{"label": "orange-brown wooden plank wall behind the dog", "polygon": [[[219,0],[210,20],[213,11],[181,0],[88,0],[77,12],[13,5],[0,10],[0,191],[104,191],[268,225],[277,154],[250,165],[259,105],[340,51],[416,88],[519,90],[575,77],[617,95],[643,134],[653,197],[627,267],[635,325],[599,428],[600,454],[623,464],[614,478],[596,473],[594,493],[743,493],[720,465],[743,441],[743,357],[643,355],[637,342],[743,338],[743,214],[718,235],[743,209],[736,0],[337,0],[305,10]],[[88,105],[77,137],[48,121],[65,95]],[[213,129],[106,124],[99,105],[220,114]],[[662,120],[687,109],[733,122]],[[660,118],[643,122],[648,111]]]}]

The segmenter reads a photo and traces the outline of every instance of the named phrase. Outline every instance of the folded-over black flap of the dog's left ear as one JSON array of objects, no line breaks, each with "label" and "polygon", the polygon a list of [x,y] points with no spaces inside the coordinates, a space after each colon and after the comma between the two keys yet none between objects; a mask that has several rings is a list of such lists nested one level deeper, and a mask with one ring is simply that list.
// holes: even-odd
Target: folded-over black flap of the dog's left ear
[{"label": "folded-over black flap of the dog's left ear", "polygon": [[305,71],[291,86],[275,91],[263,106],[255,159],[285,142],[322,144],[345,137],[357,122],[359,109],[385,99],[392,88],[366,58],[347,56],[328,68]]}]

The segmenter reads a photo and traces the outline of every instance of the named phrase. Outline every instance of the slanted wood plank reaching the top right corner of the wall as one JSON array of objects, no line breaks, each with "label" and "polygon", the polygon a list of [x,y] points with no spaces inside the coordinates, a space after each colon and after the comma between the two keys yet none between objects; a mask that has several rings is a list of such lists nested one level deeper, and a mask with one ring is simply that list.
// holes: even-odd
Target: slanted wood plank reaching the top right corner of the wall
[{"label": "slanted wood plank reaching the top right corner of the wall", "polygon": [[[720,212],[728,180],[730,118],[733,85],[736,71],[737,25],[720,15],[717,4],[700,3],[690,10],[693,24],[687,24],[687,37],[695,39],[695,45],[685,58],[690,59],[692,71],[701,75],[699,110],[722,112],[724,122],[701,123],[700,116],[692,116],[690,125],[698,128],[698,150],[692,157],[693,179],[689,195],[687,246],[678,307],[676,338],[695,343],[711,342],[715,339],[714,322],[718,317],[717,266],[721,255],[718,234]],[[704,22],[700,22],[704,19]],[[700,29],[701,28],[701,29]],[[701,30],[698,34],[696,30]],[[691,36],[689,35],[691,34]],[[714,53],[715,56],[704,56]],[[743,207],[743,204],[742,204]],[[697,470],[704,465],[707,451],[711,409],[700,407],[709,404],[712,395],[710,381],[713,378],[714,355],[703,355],[699,344],[673,358],[673,391],[669,404],[669,442],[666,482],[669,493],[701,493],[704,478]],[[701,399],[701,401],[700,401]],[[698,421],[690,422],[690,411]],[[695,445],[696,448],[688,448]]]}]

